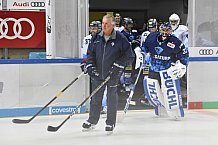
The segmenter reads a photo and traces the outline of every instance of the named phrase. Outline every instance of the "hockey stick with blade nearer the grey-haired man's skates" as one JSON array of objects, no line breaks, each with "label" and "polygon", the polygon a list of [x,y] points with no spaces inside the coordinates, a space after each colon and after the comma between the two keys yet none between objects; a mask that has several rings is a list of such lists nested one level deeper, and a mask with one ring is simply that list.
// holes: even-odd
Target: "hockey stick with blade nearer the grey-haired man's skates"
[{"label": "hockey stick with blade nearer the grey-haired man's skates", "polygon": [[58,126],[54,127],[54,126],[48,126],[47,130],[51,131],[51,132],[56,132],[59,128],[61,128],[61,126],[67,121],[69,120],[74,114],[76,114],[76,112],[82,107],[83,104],[85,104],[85,102],[91,98],[93,95],[95,95],[104,85],[105,83],[110,79],[110,76],[108,76],[92,93],[91,95],[89,95],[88,97],[86,97],[82,103],[80,103],[74,110],[73,112]]}]

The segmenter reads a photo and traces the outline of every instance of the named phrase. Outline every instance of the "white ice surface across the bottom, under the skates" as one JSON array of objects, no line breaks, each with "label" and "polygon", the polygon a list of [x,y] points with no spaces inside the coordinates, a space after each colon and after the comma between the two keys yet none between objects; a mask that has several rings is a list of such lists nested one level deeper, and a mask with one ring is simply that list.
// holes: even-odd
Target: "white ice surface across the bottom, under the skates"
[{"label": "white ice surface across the bottom, under the skates", "polygon": [[[104,131],[102,116],[95,130],[82,132],[88,114],[73,115],[57,132],[68,115],[37,116],[28,124],[14,124],[14,118],[0,118],[1,145],[217,145],[218,110],[185,110],[179,121],[158,118],[153,110],[130,110],[118,122],[114,133]],[[121,112],[118,112],[118,119]],[[30,117],[15,117],[29,119]]]}]

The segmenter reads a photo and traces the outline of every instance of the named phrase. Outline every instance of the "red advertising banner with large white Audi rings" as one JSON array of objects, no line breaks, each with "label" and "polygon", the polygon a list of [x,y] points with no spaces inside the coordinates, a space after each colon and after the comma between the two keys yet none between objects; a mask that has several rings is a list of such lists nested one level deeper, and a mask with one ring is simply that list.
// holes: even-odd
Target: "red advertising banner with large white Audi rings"
[{"label": "red advertising banner with large white Audi rings", "polygon": [[46,48],[45,12],[0,11],[0,48]]}]

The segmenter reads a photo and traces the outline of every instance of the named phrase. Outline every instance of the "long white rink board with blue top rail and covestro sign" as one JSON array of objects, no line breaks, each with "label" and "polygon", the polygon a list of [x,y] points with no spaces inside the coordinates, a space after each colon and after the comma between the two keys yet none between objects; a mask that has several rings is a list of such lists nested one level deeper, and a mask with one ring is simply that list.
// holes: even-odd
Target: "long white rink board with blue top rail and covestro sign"
[{"label": "long white rink board with blue top rail and covestro sign", "polygon": [[[0,117],[32,116],[81,74],[80,59],[1,60]],[[89,95],[89,78],[82,75],[41,115],[70,114]],[[88,101],[87,101],[88,102]],[[86,105],[80,112],[86,111]]]}]

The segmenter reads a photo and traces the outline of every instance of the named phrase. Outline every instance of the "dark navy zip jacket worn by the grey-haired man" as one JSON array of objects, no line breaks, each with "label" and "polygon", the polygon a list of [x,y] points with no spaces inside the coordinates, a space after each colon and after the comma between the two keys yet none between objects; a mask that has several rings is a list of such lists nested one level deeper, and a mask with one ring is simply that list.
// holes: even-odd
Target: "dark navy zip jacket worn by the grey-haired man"
[{"label": "dark navy zip jacket worn by the grey-haired man", "polygon": [[95,34],[87,50],[87,66],[95,66],[104,79],[109,75],[113,63],[127,66],[134,60],[130,43],[127,38],[118,31],[113,30],[106,42],[103,31]]}]

